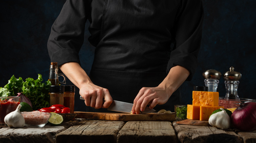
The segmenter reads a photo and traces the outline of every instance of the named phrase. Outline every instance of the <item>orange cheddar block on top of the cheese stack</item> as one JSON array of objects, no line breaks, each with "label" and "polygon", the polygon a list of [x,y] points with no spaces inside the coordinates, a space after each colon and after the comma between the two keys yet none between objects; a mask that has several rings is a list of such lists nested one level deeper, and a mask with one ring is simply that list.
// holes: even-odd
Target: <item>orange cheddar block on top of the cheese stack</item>
[{"label": "orange cheddar block on top of the cheese stack", "polygon": [[199,106],[219,106],[219,92],[193,91],[192,104]]}]

